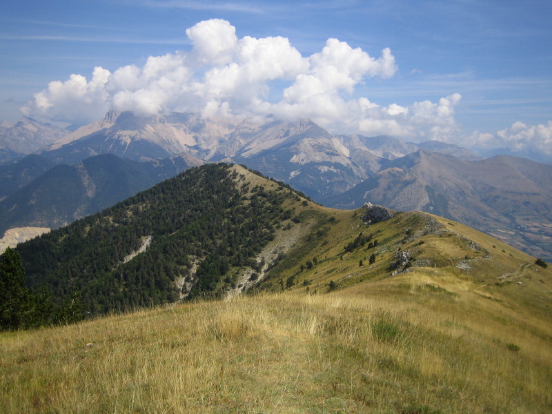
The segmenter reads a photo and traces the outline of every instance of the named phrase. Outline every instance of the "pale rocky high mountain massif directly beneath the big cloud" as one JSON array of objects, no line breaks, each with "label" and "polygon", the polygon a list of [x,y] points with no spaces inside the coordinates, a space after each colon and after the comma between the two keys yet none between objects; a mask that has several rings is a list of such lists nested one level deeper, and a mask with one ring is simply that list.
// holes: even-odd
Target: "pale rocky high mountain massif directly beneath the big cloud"
[{"label": "pale rocky high mountain massif directly beneath the big cloud", "polygon": [[[475,157],[450,144],[433,146]],[[342,193],[373,175],[388,159],[418,149],[392,137],[334,136],[308,119],[255,124],[182,113],[144,118],[110,111],[103,121],[79,128],[40,154],[64,164],[102,153],[134,161],[184,153],[204,161],[236,161],[310,191],[316,199]]]}]

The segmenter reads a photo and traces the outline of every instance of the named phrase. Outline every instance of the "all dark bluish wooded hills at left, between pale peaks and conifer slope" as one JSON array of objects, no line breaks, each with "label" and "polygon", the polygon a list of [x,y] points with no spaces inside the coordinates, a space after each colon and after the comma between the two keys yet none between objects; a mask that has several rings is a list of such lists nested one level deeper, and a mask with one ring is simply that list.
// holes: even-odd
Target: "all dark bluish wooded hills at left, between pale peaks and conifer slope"
[{"label": "all dark bluish wooded hills at left, between pale peaks and conifer slope", "polygon": [[[139,163],[103,154],[73,166],[53,166],[26,185],[15,185],[29,181],[25,180],[30,175],[27,170],[38,175],[38,166],[48,166],[48,163],[43,157],[30,155],[10,164],[9,174],[2,174],[1,169],[8,166],[0,166],[0,188],[7,195],[0,201],[0,234],[14,227],[65,226],[190,167],[205,164],[190,155]],[[31,166],[37,168],[31,169]]]}]

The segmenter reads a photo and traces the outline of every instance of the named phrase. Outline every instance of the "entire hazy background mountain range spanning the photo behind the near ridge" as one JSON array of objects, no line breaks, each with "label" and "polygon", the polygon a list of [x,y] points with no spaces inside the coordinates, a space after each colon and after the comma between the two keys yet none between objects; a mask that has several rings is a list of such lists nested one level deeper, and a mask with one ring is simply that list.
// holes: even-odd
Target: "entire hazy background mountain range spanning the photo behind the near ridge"
[{"label": "entire hazy background mountain range spanning the photo behind the near ridge", "polygon": [[[6,130],[14,135],[13,128]],[[106,154],[117,158],[86,161],[101,171],[83,167],[86,159]],[[131,172],[126,161],[139,162],[135,168],[141,172]],[[328,206],[355,208],[372,201],[442,214],[551,258],[549,166],[515,157],[482,160],[439,141],[414,144],[385,136],[331,135],[308,119],[259,124],[110,111],[101,121],[50,139],[30,158],[0,166],[0,231],[57,227],[111,205],[117,201],[114,191],[117,199],[124,199],[190,166],[219,161],[259,170]],[[54,165],[57,169],[32,183]],[[59,175],[73,177],[72,184]],[[119,183],[95,183],[101,176]],[[63,190],[63,185],[74,190]],[[56,193],[63,208],[54,206]]]}]

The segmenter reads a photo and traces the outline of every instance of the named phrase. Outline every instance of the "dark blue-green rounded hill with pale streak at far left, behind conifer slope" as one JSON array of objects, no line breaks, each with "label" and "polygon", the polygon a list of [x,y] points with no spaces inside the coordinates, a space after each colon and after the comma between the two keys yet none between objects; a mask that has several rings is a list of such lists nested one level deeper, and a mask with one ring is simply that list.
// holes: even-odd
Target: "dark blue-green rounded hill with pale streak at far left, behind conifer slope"
[{"label": "dark blue-green rounded hill with pale streak at far left, behind conifer slope", "polygon": [[110,154],[61,164],[0,202],[0,233],[12,227],[64,226],[157,181],[150,169]]}]

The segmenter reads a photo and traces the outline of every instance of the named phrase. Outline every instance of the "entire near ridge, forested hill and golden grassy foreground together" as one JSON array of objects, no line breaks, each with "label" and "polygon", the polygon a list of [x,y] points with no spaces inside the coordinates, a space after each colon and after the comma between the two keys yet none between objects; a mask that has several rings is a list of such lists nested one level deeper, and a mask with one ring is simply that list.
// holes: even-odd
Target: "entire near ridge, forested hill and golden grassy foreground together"
[{"label": "entire near ridge, forested hill and golden grassy foreground together", "polygon": [[14,252],[97,317],[1,334],[6,413],[551,408],[551,271],[448,219],[215,164]]}]

